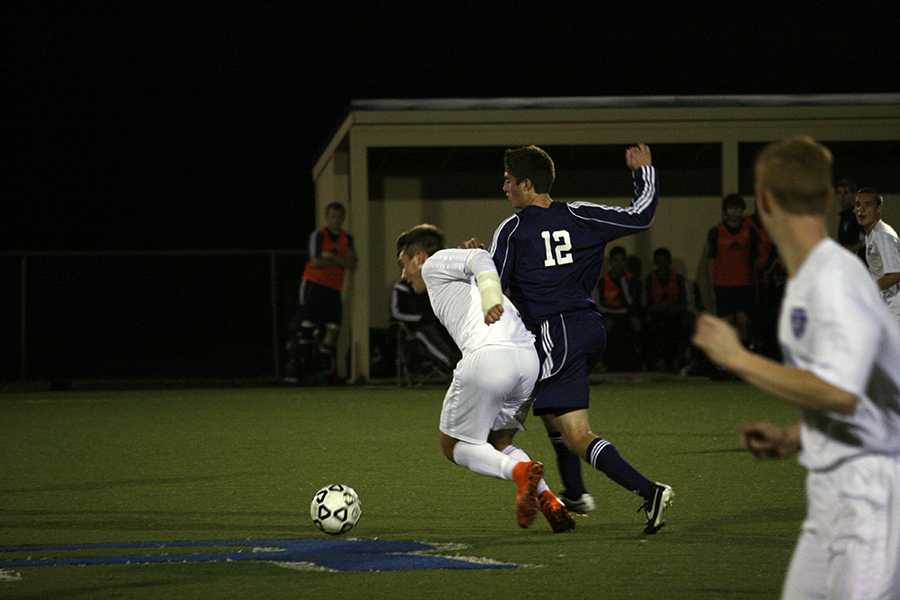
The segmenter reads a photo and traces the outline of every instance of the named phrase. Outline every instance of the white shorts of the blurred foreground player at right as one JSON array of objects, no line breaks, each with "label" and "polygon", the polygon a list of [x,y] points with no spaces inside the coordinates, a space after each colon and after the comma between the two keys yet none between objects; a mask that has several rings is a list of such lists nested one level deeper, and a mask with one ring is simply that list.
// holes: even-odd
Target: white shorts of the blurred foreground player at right
[{"label": "white shorts of the blurred foreground player at right", "polygon": [[782,598],[900,598],[900,457],[867,455],[812,471],[806,495]]}]

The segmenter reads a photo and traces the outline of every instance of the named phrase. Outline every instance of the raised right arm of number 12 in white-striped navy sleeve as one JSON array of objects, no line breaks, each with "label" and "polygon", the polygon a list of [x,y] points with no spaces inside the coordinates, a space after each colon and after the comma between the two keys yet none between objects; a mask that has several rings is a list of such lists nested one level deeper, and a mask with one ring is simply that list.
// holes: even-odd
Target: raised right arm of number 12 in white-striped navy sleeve
[{"label": "raised right arm of number 12 in white-striped navy sleeve", "polygon": [[593,202],[570,202],[569,211],[598,227],[611,228],[614,237],[621,237],[647,229],[653,223],[659,203],[656,167],[646,144],[632,146],[625,151],[625,164],[631,170],[634,197],[631,206],[607,206]]}]

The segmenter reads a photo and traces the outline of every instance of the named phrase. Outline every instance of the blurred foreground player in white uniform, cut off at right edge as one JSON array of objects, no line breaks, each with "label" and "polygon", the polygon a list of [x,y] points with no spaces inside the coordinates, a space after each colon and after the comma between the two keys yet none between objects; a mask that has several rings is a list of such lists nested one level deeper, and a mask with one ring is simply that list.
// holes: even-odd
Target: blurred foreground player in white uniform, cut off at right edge
[{"label": "blurred foreground player in white uniform, cut off at right edge", "polygon": [[743,424],[759,458],[800,452],[807,515],[782,598],[900,593],[900,325],[858,258],[827,237],[831,153],[808,137],[763,149],[756,202],[789,280],[784,364],[746,350],[702,315],[693,341],[717,364],[802,410],[794,425]]}]

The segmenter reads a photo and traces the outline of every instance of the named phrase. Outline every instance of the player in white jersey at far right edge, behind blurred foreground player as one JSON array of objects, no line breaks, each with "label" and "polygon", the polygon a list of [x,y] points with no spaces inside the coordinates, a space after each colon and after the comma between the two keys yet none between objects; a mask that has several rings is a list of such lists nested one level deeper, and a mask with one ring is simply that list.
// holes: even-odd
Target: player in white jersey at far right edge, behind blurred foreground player
[{"label": "player in white jersey at far right edge, behind blurred foreground player", "polygon": [[856,192],[856,221],[866,232],[866,264],[894,317],[900,322],[900,239],[881,220],[884,198],[873,188]]}]

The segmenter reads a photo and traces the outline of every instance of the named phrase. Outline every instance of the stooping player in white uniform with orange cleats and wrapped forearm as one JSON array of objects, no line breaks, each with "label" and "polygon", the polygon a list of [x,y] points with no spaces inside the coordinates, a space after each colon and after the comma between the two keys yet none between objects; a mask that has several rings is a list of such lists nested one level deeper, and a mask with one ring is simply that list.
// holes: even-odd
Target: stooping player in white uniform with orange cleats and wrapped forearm
[{"label": "stooping player in white uniform with orange cleats and wrapped forearm", "polygon": [[494,261],[482,249],[443,249],[433,225],[402,234],[397,260],[462,352],[444,397],[440,440],[444,456],[481,475],[516,483],[516,520],[529,527],[538,511],[556,532],[575,527],[547,487],[543,464],[512,444],[528,414],[539,361],[534,336],[500,289]]}]

